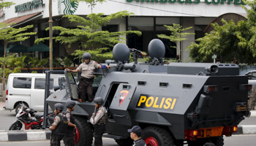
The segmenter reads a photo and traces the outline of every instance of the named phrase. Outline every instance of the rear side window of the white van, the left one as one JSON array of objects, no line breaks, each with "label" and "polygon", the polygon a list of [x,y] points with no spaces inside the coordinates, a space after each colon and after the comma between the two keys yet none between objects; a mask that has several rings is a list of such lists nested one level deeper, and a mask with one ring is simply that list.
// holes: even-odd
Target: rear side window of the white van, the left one
[{"label": "rear side window of the white van, the left one", "polygon": [[14,77],[13,88],[31,88],[31,77]]}]

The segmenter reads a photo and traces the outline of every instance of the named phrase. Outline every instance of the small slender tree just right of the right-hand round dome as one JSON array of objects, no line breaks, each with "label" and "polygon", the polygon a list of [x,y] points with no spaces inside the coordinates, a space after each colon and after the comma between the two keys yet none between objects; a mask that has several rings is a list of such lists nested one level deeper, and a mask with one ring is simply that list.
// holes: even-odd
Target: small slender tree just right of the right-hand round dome
[{"label": "small slender tree just right of the right-hand round dome", "polygon": [[186,40],[187,39],[186,37],[189,35],[195,35],[195,33],[184,32],[192,27],[182,28],[181,25],[175,24],[175,23],[173,23],[173,26],[165,25],[165,27],[167,28],[168,31],[170,31],[170,36],[167,36],[166,34],[157,34],[157,37],[162,39],[169,39],[171,42],[175,42],[176,46],[170,46],[170,47],[176,48],[178,53],[178,61],[181,61],[180,47],[178,46],[178,43]]}]

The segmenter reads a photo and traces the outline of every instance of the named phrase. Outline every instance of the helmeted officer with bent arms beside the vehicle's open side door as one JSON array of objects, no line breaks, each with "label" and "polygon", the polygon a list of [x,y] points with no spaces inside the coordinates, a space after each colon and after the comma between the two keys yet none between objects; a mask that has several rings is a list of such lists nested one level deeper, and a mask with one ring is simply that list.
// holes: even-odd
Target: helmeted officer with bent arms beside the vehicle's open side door
[{"label": "helmeted officer with bent arms beside the vehicle's open side door", "polygon": [[[102,146],[102,135],[105,132],[105,125],[108,121],[108,111],[102,106],[102,97],[94,99],[95,108],[98,108],[97,114],[92,114],[90,122],[94,125],[94,145]],[[96,111],[96,110],[95,110]]]}]

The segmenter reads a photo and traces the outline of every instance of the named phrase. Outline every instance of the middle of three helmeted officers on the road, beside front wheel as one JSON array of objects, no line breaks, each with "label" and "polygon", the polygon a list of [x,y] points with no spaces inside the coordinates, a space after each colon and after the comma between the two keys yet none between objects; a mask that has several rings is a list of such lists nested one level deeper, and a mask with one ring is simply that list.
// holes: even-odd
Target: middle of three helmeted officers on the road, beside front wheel
[{"label": "middle of three helmeted officers on the road, beside front wheel", "polygon": [[77,126],[75,126],[75,119],[72,116],[72,111],[75,110],[75,101],[67,101],[66,102],[66,107],[67,107],[67,122],[68,122],[68,127],[67,127],[67,132],[64,137],[64,144],[66,146],[75,146],[75,140],[74,140],[74,132]]}]

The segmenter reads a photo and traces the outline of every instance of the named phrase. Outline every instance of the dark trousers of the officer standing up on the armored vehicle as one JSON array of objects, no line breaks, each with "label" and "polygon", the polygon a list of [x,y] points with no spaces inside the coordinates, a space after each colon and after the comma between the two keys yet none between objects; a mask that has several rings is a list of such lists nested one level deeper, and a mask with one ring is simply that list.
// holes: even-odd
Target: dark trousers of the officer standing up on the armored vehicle
[{"label": "dark trousers of the officer standing up on the armored vehicle", "polygon": [[[92,83],[94,80],[86,80],[85,78],[81,78],[79,80],[79,93],[80,93],[80,98],[82,101],[93,101],[94,96],[92,94]],[[86,95],[87,93],[87,95]]]}]

